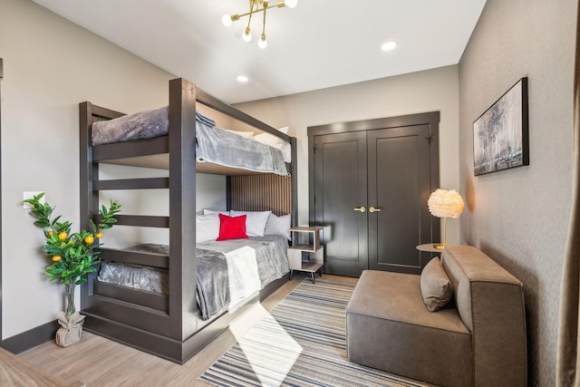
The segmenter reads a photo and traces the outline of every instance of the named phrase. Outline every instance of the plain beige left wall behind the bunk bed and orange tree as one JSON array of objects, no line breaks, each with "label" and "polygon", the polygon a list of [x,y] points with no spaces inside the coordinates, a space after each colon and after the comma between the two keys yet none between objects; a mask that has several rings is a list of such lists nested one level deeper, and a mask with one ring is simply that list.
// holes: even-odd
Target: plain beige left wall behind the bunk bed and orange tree
[{"label": "plain beige left wall behind the bunk bed and orange tree", "polygon": [[[46,191],[57,213],[78,229],[79,102],[124,112],[159,107],[168,103],[168,81],[175,77],[29,0],[0,0],[0,57],[7,338],[53,321],[64,307],[64,286],[44,274],[43,233],[22,199],[24,191]],[[209,181],[210,195],[219,185],[225,188],[225,179]],[[209,197],[201,202],[215,204]]]}]

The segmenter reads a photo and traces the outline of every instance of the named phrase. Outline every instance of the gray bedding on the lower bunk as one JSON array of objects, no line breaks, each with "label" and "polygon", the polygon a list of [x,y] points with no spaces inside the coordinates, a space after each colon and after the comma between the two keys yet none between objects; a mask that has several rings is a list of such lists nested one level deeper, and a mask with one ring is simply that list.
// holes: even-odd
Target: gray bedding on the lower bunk
[{"label": "gray bedding on the lower bunk", "polygon": [[[204,320],[230,305],[230,278],[225,253],[245,246],[252,247],[256,251],[260,288],[288,273],[286,257],[288,242],[283,236],[270,235],[198,243],[196,299]],[[169,246],[144,244],[131,247],[131,250],[167,254]],[[166,269],[107,262],[102,263],[97,279],[114,285],[166,295],[169,293],[169,275]]]}]

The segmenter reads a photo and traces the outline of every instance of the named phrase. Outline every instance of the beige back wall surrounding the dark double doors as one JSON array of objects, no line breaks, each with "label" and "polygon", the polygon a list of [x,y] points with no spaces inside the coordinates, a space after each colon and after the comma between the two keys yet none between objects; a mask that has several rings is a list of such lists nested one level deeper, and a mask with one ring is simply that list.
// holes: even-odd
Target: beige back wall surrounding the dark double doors
[{"label": "beige back wall surrounding the dark double doors", "polygon": [[[440,111],[440,187],[459,189],[459,75],[456,65],[371,82],[237,105],[298,140],[298,210],[308,223],[309,126]],[[459,243],[459,219],[447,222],[448,243]]]}]

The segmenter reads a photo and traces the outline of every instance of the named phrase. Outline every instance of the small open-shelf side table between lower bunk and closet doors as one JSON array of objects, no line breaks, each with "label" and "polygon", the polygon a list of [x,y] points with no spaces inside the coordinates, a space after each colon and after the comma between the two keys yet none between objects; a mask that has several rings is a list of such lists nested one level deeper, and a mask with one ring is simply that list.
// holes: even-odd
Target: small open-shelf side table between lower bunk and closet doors
[{"label": "small open-shelf side table between lower bunk and closet doors", "polygon": [[[324,246],[320,244],[320,230],[323,227],[292,227],[292,246],[288,247],[288,265],[290,266],[290,279],[294,271],[309,272],[314,284],[314,273],[322,276],[324,265]],[[310,242],[312,240],[312,243]],[[309,253],[307,261],[302,260],[302,253]]]}]

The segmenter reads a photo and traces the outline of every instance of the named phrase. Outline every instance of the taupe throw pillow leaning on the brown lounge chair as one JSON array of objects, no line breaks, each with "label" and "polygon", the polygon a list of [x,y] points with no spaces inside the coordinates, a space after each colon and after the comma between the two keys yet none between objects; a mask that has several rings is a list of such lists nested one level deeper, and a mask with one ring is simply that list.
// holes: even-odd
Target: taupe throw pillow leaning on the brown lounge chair
[{"label": "taupe throw pillow leaning on the brown lounge chair", "polygon": [[436,312],[447,305],[453,297],[453,285],[445,273],[439,258],[435,257],[420,274],[420,293],[423,303],[430,312]]}]

